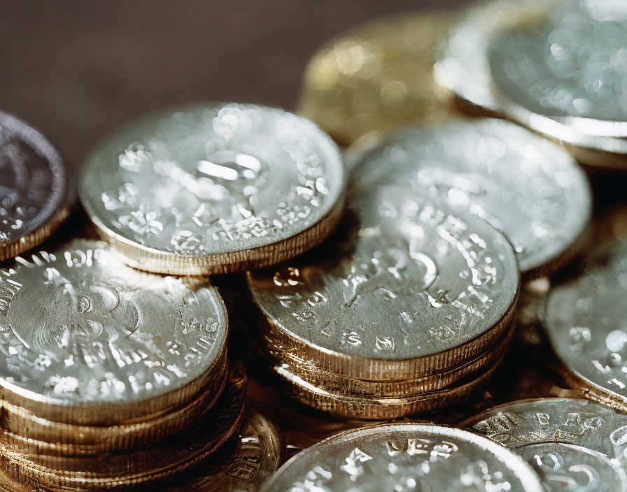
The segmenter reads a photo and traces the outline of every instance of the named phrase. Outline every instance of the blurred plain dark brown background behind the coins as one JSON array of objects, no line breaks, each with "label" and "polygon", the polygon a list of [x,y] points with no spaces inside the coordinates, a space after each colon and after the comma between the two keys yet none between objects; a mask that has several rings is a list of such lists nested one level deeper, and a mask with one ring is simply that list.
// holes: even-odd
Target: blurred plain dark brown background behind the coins
[{"label": "blurred plain dark brown background behind the coins", "polygon": [[77,166],[147,110],[189,101],[293,108],[316,48],[392,13],[468,0],[22,0],[0,3],[0,108]]}]

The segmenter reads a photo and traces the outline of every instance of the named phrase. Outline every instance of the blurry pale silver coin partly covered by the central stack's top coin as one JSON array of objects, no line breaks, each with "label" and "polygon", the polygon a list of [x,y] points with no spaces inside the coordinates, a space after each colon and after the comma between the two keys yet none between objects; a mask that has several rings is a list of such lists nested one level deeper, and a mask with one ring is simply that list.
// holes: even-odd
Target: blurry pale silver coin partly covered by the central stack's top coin
[{"label": "blurry pale silver coin partly covered by the central stack's top coin", "polygon": [[592,214],[590,184],[568,152],[502,120],[397,131],[362,157],[354,179],[427,189],[488,220],[512,241],[526,279],[572,259]]}]

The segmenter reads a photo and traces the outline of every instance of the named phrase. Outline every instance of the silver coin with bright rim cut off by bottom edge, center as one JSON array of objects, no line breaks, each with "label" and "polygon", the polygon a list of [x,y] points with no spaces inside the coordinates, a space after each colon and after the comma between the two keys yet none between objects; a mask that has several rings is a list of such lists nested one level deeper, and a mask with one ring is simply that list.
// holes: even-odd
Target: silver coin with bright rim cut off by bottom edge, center
[{"label": "silver coin with bright rim cut off by bottom edge, center", "polygon": [[512,451],[485,437],[428,424],[339,433],[283,465],[262,492],[542,491]]}]

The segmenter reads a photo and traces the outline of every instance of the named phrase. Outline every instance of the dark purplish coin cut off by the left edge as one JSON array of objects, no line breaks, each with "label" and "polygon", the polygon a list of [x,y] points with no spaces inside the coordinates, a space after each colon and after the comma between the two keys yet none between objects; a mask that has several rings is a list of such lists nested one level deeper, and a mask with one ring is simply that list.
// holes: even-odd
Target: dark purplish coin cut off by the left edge
[{"label": "dark purplish coin cut off by the left edge", "polygon": [[69,213],[70,179],[41,133],[0,111],[0,261],[43,242]]}]

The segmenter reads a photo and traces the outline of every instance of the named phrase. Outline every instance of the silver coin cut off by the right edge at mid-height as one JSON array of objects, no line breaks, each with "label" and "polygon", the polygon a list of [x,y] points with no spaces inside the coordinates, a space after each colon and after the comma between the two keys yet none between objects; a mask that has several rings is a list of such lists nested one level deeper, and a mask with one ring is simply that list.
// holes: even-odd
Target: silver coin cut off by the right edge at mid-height
[{"label": "silver coin cut off by the right edge at mid-height", "polygon": [[549,292],[543,324],[566,377],[586,397],[627,408],[627,243],[605,243]]}]

